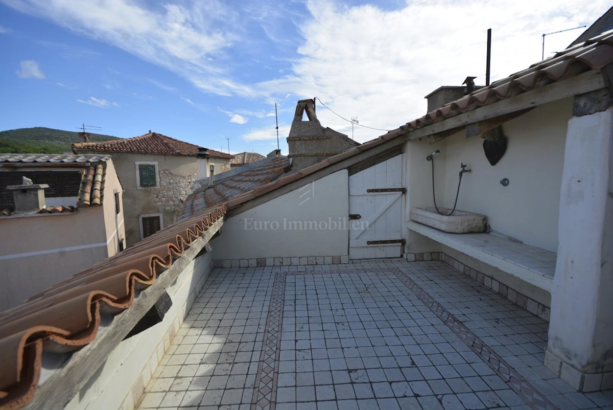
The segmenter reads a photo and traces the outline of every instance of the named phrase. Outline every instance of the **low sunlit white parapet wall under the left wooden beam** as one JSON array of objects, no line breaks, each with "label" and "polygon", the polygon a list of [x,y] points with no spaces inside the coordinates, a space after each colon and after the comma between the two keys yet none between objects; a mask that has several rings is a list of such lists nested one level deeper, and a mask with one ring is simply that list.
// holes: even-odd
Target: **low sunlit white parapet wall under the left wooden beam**
[{"label": "low sunlit white parapet wall under the left wooden beam", "polygon": [[[92,376],[88,384],[66,405],[65,410],[121,408],[124,399],[131,394],[132,387],[139,380],[143,370],[151,366],[150,358],[157,354],[158,344],[164,341],[164,350],[167,349],[171,341],[167,332],[175,322],[177,315],[183,316],[189,312],[191,303],[194,301],[194,298],[190,296],[200,291],[199,287],[208,276],[211,253],[205,253],[202,257],[193,260],[167,289],[172,299],[172,306],[166,312],[164,320],[121,342],[109,355],[104,365]],[[186,306],[189,300],[191,303]],[[183,317],[181,317],[182,321]],[[158,358],[153,363],[157,365],[157,362]],[[155,367],[149,369],[148,374],[151,375]],[[143,384],[147,382],[148,379],[143,381]]]}]

